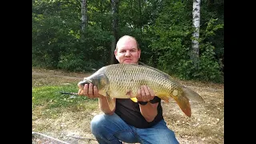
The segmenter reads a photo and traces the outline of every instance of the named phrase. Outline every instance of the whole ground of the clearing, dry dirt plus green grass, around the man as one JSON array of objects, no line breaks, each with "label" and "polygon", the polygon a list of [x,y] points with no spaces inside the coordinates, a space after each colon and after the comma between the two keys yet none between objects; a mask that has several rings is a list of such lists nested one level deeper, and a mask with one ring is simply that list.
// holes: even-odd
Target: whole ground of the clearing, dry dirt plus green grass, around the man
[{"label": "whole ground of the clearing, dry dirt plus green grass, around the man", "polygon": [[[91,134],[91,119],[102,113],[98,108],[98,98],[78,95],[73,98],[59,93],[77,93],[78,82],[90,74],[35,69],[32,72],[36,72],[32,74],[32,130],[50,133],[54,138],[62,138],[62,134],[69,132],[80,137]],[[194,105],[192,117],[187,118],[175,103],[164,103],[163,116],[167,126],[174,130],[181,143],[223,143],[224,86],[194,81],[182,83],[198,90],[206,104],[203,107]]]}]

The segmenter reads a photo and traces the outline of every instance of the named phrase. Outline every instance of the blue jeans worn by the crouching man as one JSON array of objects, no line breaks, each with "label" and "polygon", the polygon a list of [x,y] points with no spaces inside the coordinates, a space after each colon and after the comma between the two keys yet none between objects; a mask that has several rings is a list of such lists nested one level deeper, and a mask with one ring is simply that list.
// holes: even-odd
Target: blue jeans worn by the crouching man
[{"label": "blue jeans worn by the crouching man", "polygon": [[118,114],[98,114],[90,122],[90,128],[99,144],[110,143],[152,143],[178,144],[174,131],[164,120],[150,128],[136,128],[126,124]]}]

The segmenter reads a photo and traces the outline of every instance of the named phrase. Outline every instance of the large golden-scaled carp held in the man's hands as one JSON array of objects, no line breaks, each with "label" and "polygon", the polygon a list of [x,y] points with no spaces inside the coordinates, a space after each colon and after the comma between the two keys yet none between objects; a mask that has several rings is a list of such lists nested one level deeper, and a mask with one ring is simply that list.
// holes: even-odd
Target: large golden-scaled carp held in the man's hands
[{"label": "large golden-scaled carp held in the man's hands", "polygon": [[103,66],[94,74],[84,78],[82,82],[78,82],[79,95],[83,94],[83,86],[86,83],[93,83],[94,86],[97,86],[98,94],[107,98],[110,110],[114,110],[115,105],[112,98],[130,98],[137,102],[137,98],[135,98],[137,90],[143,85],[149,86],[154,94],[165,102],[169,102],[169,98],[174,98],[188,117],[191,116],[189,100],[203,102],[198,93],[175,82],[169,74],[151,66],[136,64]]}]

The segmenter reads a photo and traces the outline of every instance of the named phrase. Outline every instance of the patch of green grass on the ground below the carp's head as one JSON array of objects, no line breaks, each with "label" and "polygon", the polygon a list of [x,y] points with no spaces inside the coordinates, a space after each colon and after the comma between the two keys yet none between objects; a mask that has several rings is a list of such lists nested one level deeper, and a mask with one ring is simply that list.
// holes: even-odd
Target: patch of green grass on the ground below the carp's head
[{"label": "patch of green grass on the ground below the carp's head", "polygon": [[41,116],[58,118],[65,110],[94,110],[98,107],[98,98],[90,99],[60,92],[78,92],[76,83],[66,86],[38,86],[32,89],[32,109]]}]

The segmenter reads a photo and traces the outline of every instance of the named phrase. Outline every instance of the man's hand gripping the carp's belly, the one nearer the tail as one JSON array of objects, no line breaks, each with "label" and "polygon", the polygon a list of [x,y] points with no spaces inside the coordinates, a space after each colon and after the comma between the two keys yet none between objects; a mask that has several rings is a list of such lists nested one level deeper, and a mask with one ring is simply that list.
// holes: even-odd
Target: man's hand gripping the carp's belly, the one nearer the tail
[{"label": "man's hand gripping the carp's belly, the one nearer the tail", "polygon": [[154,91],[151,90],[148,86],[141,86],[137,91],[137,99],[142,102],[149,102],[154,99]]}]

